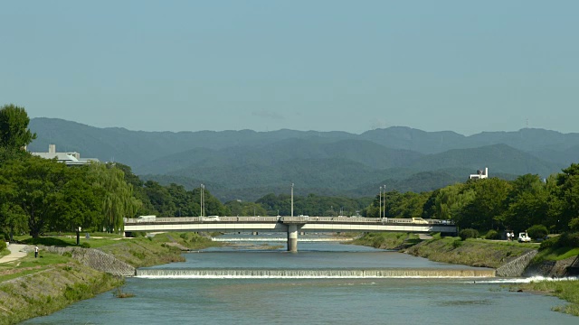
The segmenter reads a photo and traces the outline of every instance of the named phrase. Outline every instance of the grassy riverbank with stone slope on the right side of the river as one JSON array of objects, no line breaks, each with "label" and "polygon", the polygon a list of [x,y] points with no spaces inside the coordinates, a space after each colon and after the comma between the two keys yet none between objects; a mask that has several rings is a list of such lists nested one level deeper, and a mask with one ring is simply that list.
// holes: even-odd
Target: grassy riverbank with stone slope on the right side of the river
[{"label": "grassy riverbank with stone slope on the right side of the river", "polygon": [[[373,246],[383,249],[397,249],[403,253],[428,258],[442,263],[491,267],[498,270],[499,276],[542,275],[549,278],[569,276],[568,266],[579,263],[576,248],[546,248],[536,255],[536,244],[467,239],[455,237],[434,237],[431,240],[416,241],[406,234],[366,234],[355,242],[357,245]],[[405,247],[405,248],[404,248]],[[536,256],[535,258],[533,258]],[[502,272],[517,272],[505,275]],[[579,280],[536,281],[520,283],[511,287],[512,291],[540,292],[555,295],[566,302],[565,306],[555,307],[554,311],[579,316]]]}]

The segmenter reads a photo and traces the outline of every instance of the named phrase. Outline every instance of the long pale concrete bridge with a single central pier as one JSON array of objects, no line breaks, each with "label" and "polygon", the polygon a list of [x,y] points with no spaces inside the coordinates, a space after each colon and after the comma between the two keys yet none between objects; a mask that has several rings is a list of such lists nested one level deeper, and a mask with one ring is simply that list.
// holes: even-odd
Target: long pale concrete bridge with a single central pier
[{"label": "long pale concrete bridge with a single central pier", "polygon": [[456,234],[446,220],[416,218],[348,217],[179,217],[127,218],[125,233],[135,231],[281,232],[287,233],[288,251],[298,251],[298,232],[441,232]]}]

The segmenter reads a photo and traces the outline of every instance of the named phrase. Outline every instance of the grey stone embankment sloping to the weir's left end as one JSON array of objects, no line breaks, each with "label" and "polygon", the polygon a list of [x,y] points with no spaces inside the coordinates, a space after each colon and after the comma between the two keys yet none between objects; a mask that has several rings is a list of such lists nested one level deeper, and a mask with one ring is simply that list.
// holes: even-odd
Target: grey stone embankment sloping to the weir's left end
[{"label": "grey stone embankment sloping to the weir's left end", "polygon": [[135,268],[133,266],[119,261],[115,256],[98,249],[57,246],[44,246],[42,249],[60,255],[71,254],[71,257],[81,262],[81,264],[90,266],[100,272],[119,276],[135,275]]}]

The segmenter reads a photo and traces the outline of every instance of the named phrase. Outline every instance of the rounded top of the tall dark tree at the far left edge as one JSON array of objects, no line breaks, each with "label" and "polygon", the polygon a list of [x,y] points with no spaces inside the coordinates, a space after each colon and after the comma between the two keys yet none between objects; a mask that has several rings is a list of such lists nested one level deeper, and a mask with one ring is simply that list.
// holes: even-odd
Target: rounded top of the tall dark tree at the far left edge
[{"label": "rounded top of the tall dark tree at the far left edge", "polygon": [[30,118],[24,107],[13,104],[0,108],[0,147],[18,150],[30,144],[35,138],[28,129]]}]

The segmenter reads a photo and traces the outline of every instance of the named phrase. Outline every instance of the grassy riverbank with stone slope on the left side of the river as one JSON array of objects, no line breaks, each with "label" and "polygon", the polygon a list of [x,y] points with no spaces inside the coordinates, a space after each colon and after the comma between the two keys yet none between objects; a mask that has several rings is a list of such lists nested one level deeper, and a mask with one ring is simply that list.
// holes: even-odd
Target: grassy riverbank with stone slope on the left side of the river
[{"label": "grassy riverbank with stone slope on the left side of the river", "polygon": [[[103,243],[99,239],[85,242],[92,246]],[[0,265],[0,324],[48,315],[118,288],[124,279],[112,274],[118,274],[119,270],[127,272],[123,264],[137,268],[184,261],[182,249],[197,250],[219,244],[196,234],[173,233],[109,240],[98,251],[78,246],[39,246],[39,258],[28,253],[18,261]],[[116,262],[107,262],[110,260]]]}]

